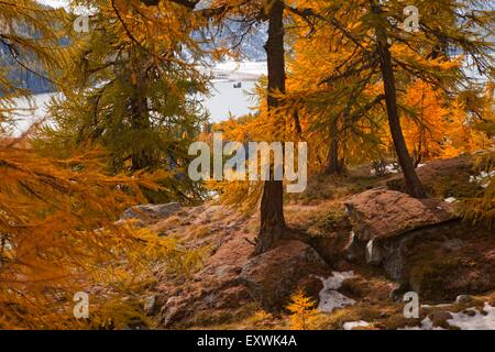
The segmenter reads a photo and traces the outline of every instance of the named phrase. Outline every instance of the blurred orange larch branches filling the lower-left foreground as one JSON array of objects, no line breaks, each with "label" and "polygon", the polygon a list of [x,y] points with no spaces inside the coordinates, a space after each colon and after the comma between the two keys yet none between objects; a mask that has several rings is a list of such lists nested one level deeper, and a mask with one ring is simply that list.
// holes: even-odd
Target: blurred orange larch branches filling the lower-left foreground
[{"label": "blurred orange larch branches filling the lower-left foreground", "polygon": [[[141,186],[156,187],[153,178],[108,176],[98,153],[50,160],[12,142],[0,147],[0,173],[3,329],[123,328],[140,306],[122,298],[152,279],[151,263],[160,257],[183,274],[200,265],[201,252],[113,223],[143,200]],[[78,292],[91,297],[89,321],[73,316]]]}]

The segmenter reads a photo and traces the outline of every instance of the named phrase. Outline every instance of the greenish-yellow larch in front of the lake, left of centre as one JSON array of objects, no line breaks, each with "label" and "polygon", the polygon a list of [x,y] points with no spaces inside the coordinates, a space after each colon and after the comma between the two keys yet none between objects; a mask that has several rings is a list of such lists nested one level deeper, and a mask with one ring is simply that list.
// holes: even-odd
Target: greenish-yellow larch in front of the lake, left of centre
[{"label": "greenish-yellow larch in front of the lake, left of centre", "polygon": [[152,201],[194,202],[202,197],[185,177],[188,147],[206,113],[199,96],[207,77],[198,70],[193,19],[182,7],[156,9],[139,1],[75,1],[92,11],[88,33],[73,33],[64,69],[64,97],[51,112],[54,127],[42,142],[73,151],[102,144],[114,173],[166,169]]}]

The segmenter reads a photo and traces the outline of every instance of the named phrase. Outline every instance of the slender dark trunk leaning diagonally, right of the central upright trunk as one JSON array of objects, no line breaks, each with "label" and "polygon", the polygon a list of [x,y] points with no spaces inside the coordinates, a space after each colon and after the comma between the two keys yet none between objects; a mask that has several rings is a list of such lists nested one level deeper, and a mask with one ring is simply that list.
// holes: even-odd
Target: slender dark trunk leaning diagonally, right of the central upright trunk
[{"label": "slender dark trunk leaning diagonally, right of the central upright trunk", "polygon": [[[375,14],[382,13],[382,8],[377,1],[373,2],[372,11]],[[388,38],[385,29],[376,24],[376,40],[378,45],[383,84],[385,87],[385,101],[387,106],[388,125],[391,128],[392,140],[395,151],[403,168],[407,193],[415,198],[427,198],[421,182],[416,174],[413,160],[406,146],[400,118],[397,109],[397,90],[395,87],[394,68],[392,66],[391,51],[388,50]]]}]

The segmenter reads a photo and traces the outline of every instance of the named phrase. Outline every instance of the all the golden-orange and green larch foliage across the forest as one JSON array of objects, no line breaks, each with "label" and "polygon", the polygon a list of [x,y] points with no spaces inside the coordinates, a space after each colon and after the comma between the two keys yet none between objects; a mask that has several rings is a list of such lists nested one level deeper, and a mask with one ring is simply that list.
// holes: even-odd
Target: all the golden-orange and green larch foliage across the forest
[{"label": "all the golden-orange and green larch foliage across the forest", "polygon": [[[200,10],[197,1],[69,1],[72,10],[96,10],[89,33],[74,33],[70,11],[0,1],[0,53],[46,74],[64,95],[53,99],[50,116],[12,136],[16,99],[31,94],[0,61],[0,329],[151,326],[142,295],[156,284],[156,264],[188,276],[208,250],[118,221],[122,211],[150,199],[196,204],[206,197],[204,186],[245,213],[260,209],[262,182],[191,182],[188,147],[212,136],[200,133],[208,117],[197,95],[208,95],[211,80],[202,67],[240,57],[244,34],[266,24],[280,1],[213,0]],[[398,158],[391,129],[396,108],[395,132],[415,167],[482,151],[472,179],[482,190],[460,199],[461,211],[493,227],[494,72],[486,40],[493,12],[463,15],[476,0],[411,3],[422,13],[417,33],[400,28],[400,0],[282,1],[278,48],[287,65],[277,74],[285,89],[268,91],[271,78],[262,77],[253,112],[217,123],[213,132],[244,145],[306,142],[310,178],[363,165],[367,172],[374,162]],[[215,33],[226,31],[228,20],[242,23],[245,33],[217,43]],[[22,34],[22,26],[36,37]],[[466,68],[488,82],[471,79]],[[391,81],[393,101],[386,99]],[[47,118],[53,125],[40,131]],[[276,197],[283,205],[283,193]],[[197,230],[189,237],[206,237]],[[89,319],[74,316],[76,293],[89,295]],[[320,317],[315,306],[302,290],[292,295],[290,329],[314,329]]]}]

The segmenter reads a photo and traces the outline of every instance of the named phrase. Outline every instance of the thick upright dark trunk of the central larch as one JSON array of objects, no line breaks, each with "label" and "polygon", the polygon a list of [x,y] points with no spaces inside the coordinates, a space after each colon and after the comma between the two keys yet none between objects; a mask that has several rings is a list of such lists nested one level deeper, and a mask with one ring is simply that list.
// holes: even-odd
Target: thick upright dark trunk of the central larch
[{"label": "thick upright dark trunk of the central larch", "polygon": [[[272,2],[268,13],[268,40],[265,45],[268,61],[268,111],[278,106],[272,96],[274,91],[285,92],[285,52],[284,52],[284,3]],[[273,177],[273,173],[271,173]],[[284,185],[282,180],[267,180],[264,184],[261,201],[261,227],[257,238],[256,253],[273,248],[284,233]]]}]

